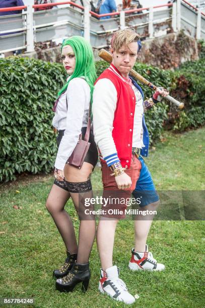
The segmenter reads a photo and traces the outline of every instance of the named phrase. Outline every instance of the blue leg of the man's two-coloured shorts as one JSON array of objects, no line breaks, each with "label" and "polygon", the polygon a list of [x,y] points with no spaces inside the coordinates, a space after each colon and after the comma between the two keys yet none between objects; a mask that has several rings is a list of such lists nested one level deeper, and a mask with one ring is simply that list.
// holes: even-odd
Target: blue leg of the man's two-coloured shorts
[{"label": "blue leg of the man's two-coloured shorts", "polygon": [[136,182],[136,187],[132,192],[134,198],[140,198],[141,204],[140,206],[146,206],[150,203],[156,202],[159,200],[159,195],[156,191],[155,185],[153,183],[153,179],[148,167],[145,164],[142,156],[139,157],[139,160],[142,165],[142,169],[140,171],[140,177]]}]

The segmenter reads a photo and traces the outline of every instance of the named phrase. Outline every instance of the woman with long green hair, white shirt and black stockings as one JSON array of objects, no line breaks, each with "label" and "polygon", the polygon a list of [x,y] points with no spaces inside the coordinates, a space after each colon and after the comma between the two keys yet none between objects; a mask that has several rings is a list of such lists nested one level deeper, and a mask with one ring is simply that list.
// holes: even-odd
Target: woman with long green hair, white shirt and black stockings
[{"label": "woman with long green hair, white shirt and black stockings", "polygon": [[[88,288],[90,280],[89,257],[96,233],[93,216],[81,219],[81,205],[85,198],[92,198],[91,174],[98,161],[98,151],[92,130],[90,147],[81,169],[67,163],[79,138],[84,139],[90,116],[94,82],[97,78],[91,45],[80,36],[72,36],[61,46],[63,66],[69,75],[65,85],[58,92],[53,110],[52,124],[58,130],[58,152],[55,160],[55,180],[46,201],[66,247],[64,264],[53,271],[57,278],[56,289],[69,292],[77,283]],[[80,217],[79,240],[75,236],[73,222],[64,206],[69,198]],[[85,213],[85,210],[84,210]]]}]

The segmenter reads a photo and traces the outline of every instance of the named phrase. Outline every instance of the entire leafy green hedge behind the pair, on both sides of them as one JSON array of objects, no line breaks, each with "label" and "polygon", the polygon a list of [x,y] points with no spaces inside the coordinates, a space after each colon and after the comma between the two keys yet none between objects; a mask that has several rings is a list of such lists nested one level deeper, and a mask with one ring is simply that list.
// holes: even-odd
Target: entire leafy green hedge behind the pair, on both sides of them
[{"label": "entire leafy green hedge behind the pair, on both sides of them", "polygon": [[[107,67],[104,61],[96,62],[97,75]],[[135,64],[136,71],[185,103],[180,112],[163,102],[146,113],[151,142],[165,127],[183,131],[205,123],[204,67],[205,59],[186,62],[175,72]],[[65,79],[66,73],[58,63],[18,57],[0,59],[0,182],[15,179],[15,174],[52,170],[57,149],[52,106]],[[145,97],[150,97],[152,91],[141,86]]]}]

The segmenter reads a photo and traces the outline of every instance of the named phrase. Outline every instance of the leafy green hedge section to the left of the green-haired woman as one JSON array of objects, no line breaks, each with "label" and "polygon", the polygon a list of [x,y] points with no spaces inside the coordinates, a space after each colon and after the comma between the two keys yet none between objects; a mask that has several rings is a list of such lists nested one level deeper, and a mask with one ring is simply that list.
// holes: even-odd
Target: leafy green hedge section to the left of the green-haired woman
[{"label": "leafy green hedge section to the left of the green-haired woman", "polygon": [[0,59],[0,181],[53,168],[52,104],[64,79],[64,69],[57,63]]}]

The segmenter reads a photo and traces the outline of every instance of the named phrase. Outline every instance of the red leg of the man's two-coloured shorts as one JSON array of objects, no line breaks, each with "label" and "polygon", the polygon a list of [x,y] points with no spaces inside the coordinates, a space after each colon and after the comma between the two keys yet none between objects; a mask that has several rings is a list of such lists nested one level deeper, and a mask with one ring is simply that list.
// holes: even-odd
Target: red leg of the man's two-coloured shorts
[{"label": "red leg of the man's two-coloured shorts", "polygon": [[118,189],[115,177],[110,176],[112,171],[107,164],[101,162],[102,182],[103,182],[103,200],[106,199],[106,204],[102,205],[103,214],[101,216],[109,218],[124,218],[125,209],[127,208],[127,200],[130,198],[132,191],[135,189],[136,181],[140,177],[142,168],[141,162],[135,156],[131,156],[131,163],[129,169],[124,172],[131,178],[131,187],[129,189]]}]

